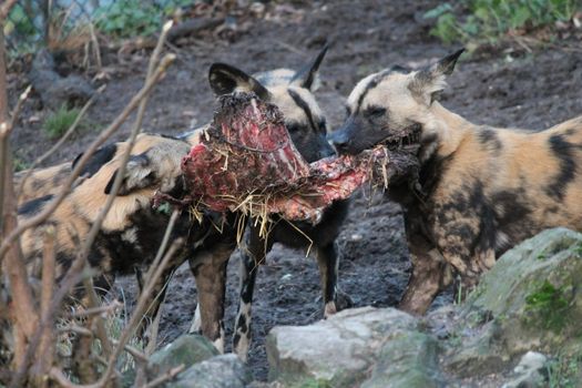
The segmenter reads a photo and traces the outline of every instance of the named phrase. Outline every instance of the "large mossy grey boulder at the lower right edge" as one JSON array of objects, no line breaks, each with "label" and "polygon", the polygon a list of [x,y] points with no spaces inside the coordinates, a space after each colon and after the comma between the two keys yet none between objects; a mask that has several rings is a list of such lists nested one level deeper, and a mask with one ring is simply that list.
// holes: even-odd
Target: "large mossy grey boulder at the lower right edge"
[{"label": "large mossy grey boulder at the lower right edge", "polygon": [[446,365],[459,376],[508,369],[529,350],[582,350],[582,235],[544,231],[507,252],[461,307]]}]

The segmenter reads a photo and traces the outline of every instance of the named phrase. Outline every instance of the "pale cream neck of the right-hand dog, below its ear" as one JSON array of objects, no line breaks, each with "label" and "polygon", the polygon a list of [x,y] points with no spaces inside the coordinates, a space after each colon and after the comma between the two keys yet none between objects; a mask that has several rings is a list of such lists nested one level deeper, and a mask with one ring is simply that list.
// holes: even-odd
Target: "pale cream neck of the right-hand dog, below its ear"
[{"label": "pale cream neck of the right-hand dog, below its ear", "polygon": [[428,161],[437,153],[439,157],[448,157],[453,154],[459,145],[474,126],[457,113],[443,108],[435,101],[428,109],[428,114],[420,120],[422,125],[420,162]]}]

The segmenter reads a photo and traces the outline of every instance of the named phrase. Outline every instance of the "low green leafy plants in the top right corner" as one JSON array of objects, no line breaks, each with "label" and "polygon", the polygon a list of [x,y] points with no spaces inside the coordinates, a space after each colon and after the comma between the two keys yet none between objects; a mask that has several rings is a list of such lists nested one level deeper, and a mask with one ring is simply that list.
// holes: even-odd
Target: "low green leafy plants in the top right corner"
[{"label": "low green leafy plants in the top right corner", "polygon": [[458,6],[446,2],[423,16],[436,19],[430,33],[445,43],[494,42],[511,30],[570,21],[582,8],[580,0],[462,0]]}]

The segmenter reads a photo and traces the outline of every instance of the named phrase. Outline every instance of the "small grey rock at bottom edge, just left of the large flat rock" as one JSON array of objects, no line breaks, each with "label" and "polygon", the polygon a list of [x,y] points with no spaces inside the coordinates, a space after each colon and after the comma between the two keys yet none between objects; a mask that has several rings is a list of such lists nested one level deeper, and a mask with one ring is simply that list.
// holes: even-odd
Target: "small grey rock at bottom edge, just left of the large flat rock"
[{"label": "small grey rock at bottom edge, just left of the large flat rock", "polygon": [[245,388],[253,380],[248,367],[229,354],[191,366],[166,384],[169,388]]}]

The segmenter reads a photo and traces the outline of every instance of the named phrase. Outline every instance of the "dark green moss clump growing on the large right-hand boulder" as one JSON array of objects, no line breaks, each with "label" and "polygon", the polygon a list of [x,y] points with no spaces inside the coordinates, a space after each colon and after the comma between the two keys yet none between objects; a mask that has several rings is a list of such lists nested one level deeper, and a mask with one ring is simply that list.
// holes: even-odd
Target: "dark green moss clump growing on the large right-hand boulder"
[{"label": "dark green moss clump growing on the large right-hand boulder", "polygon": [[525,297],[525,308],[538,313],[542,327],[560,331],[565,325],[565,309],[569,302],[563,287],[555,288],[550,282],[543,283]]}]

